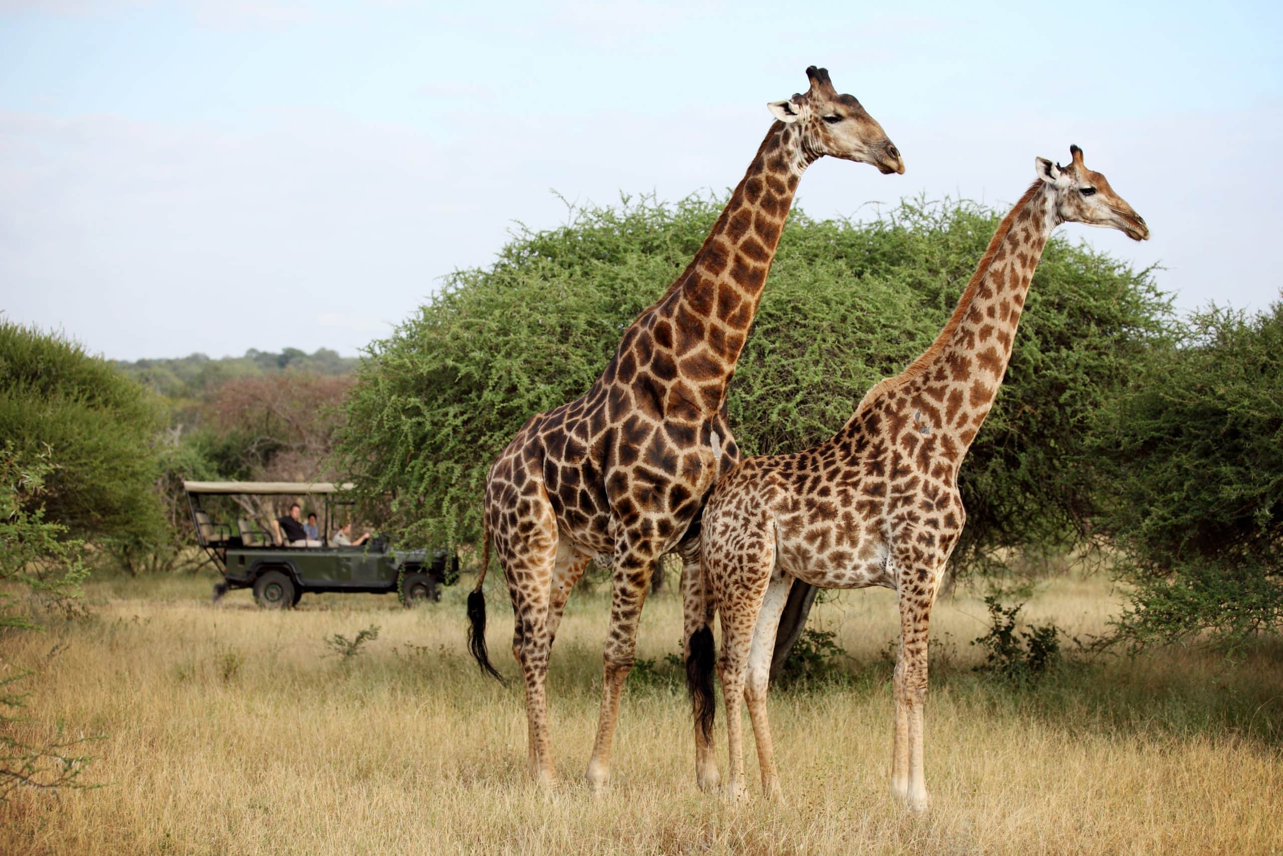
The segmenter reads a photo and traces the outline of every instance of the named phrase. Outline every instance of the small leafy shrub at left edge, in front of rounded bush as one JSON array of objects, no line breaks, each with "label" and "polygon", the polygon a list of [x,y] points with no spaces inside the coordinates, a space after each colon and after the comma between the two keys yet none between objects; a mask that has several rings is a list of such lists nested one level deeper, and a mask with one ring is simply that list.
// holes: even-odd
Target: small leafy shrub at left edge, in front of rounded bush
[{"label": "small leafy shrub at left edge, in front of rounded bush", "polygon": [[[49,456],[27,458],[6,441],[0,448],[0,581],[28,592],[28,615],[80,615],[81,584],[89,578],[78,540],[65,539],[67,527],[45,520],[41,504],[54,465]],[[32,617],[8,608],[0,593],[0,628],[32,629]]]}]

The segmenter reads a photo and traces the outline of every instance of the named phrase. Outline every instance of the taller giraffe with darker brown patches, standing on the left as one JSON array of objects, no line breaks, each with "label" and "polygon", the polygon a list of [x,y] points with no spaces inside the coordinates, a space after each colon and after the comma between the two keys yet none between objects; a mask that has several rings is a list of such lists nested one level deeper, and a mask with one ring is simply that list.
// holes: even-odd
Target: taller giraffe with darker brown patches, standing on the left
[{"label": "taller giraffe with darker brown patches, standing on the left", "polygon": [[776,122],[726,209],[681,276],[624,332],[597,382],[531,417],[490,467],[481,575],[468,597],[470,648],[498,676],[485,651],[481,593],[493,539],[516,616],[512,653],[526,684],[530,771],[545,785],[556,780],[544,690],[549,651],[566,598],[595,554],[612,557],[615,590],[586,776],[594,788],[607,783],[652,569],[681,542],[686,565],[697,566],[692,524],[718,475],[739,459],[726,386],[802,172],[822,155],[905,172],[860,101],[834,90],[825,69],[806,73],[806,95],[769,105]]}]

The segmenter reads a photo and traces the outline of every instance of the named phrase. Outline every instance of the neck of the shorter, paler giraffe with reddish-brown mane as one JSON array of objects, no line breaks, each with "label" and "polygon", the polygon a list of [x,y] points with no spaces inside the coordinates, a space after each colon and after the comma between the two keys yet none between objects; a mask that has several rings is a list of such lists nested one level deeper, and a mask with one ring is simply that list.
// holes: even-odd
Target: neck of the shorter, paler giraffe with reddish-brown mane
[{"label": "neck of the shorter, paler giraffe with reddish-brown mane", "polygon": [[1057,225],[1053,191],[1035,182],[998,225],[931,347],[901,375],[874,386],[856,412],[907,395],[916,427],[965,453],[998,395],[1029,284]]}]

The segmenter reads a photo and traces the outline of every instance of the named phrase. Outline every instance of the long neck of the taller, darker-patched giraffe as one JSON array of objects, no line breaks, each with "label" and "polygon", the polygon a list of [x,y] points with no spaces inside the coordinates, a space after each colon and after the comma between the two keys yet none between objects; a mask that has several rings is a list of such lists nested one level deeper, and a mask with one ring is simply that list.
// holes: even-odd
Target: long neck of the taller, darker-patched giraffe
[{"label": "long neck of the taller, darker-patched giraffe", "polygon": [[704,416],[721,409],[793,195],[819,157],[802,136],[794,124],[771,126],[703,246],[625,334],[603,380],[680,385],[674,398]]}]

